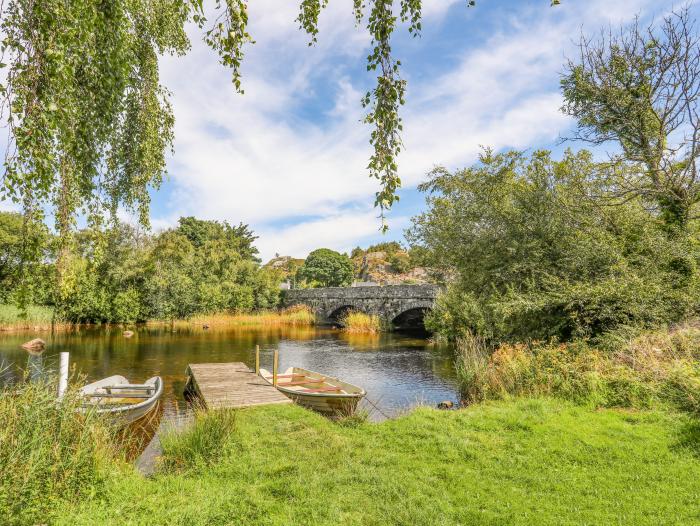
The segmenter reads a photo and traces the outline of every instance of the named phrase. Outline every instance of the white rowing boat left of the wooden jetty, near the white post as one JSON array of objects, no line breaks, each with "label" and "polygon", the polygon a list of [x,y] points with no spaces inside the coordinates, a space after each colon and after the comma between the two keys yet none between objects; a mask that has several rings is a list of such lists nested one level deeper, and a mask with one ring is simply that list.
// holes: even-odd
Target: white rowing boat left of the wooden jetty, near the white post
[{"label": "white rowing boat left of the wooden jetty, near the white post", "polygon": [[156,407],[163,394],[163,380],[160,376],[154,376],[143,384],[131,384],[123,376],[115,374],[87,384],[80,393],[85,398],[84,411],[108,414],[120,423],[130,424]]}]

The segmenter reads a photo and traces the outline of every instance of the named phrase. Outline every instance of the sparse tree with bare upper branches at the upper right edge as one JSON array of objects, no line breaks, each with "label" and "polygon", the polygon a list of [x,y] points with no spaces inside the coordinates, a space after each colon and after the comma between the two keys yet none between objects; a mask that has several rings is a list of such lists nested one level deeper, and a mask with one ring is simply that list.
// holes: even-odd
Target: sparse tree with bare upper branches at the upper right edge
[{"label": "sparse tree with bare upper branches at the upper right edge", "polygon": [[616,142],[631,162],[614,174],[608,197],[641,196],[667,227],[687,229],[700,202],[700,42],[690,11],[658,28],[635,20],[599,40],[582,37],[561,84],[563,110],[578,119],[575,138]]}]

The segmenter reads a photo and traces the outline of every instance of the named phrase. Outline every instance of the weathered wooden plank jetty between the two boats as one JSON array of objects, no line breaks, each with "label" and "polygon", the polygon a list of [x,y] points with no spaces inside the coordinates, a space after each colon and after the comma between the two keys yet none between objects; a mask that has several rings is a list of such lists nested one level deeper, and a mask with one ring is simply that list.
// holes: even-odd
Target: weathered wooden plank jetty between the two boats
[{"label": "weathered wooden plank jetty between the two boats", "polygon": [[242,362],[191,363],[187,376],[207,409],[292,403]]}]

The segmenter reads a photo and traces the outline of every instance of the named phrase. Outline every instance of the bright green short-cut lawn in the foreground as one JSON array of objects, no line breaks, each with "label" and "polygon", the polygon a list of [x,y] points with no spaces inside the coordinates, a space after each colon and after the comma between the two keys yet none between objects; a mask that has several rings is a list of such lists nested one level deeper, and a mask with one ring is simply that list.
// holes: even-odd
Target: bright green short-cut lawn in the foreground
[{"label": "bright green short-cut lawn in the foreground", "polygon": [[521,399],[355,428],[266,407],[234,425],[211,467],[129,475],[61,523],[700,522],[700,427],[686,416]]}]

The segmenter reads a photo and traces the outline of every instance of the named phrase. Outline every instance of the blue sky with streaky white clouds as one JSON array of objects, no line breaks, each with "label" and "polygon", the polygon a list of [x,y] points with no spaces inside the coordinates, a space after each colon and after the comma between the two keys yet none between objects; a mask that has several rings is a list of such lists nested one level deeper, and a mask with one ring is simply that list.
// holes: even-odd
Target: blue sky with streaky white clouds
[{"label": "blue sky with streaky white clouds", "polygon": [[250,2],[244,95],[191,32],[186,57],[161,61],[176,117],[170,177],[153,194],[155,229],[181,215],[242,221],[260,236],[263,258],[304,257],[402,239],[423,209],[415,187],[435,165],[472,164],[482,145],[549,148],[571,121],[559,112],[559,72],[581,31],[663,15],[663,0],[424,0],[423,35],[397,30],[394,52],[408,80],[400,203],[379,233],[377,181],[367,176],[370,129],[360,122],[369,39],[350,0],[321,15],[318,44],[294,19],[298,2]]}]

